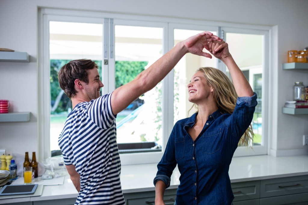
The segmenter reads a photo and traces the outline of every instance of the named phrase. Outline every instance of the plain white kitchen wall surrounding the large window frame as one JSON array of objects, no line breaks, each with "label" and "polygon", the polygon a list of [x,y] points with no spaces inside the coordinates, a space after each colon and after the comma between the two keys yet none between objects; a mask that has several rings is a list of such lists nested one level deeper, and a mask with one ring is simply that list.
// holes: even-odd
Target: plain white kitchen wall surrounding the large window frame
[{"label": "plain white kitchen wall surrounding the large window frame", "polygon": [[30,122],[0,123],[0,149],[6,148],[7,153],[39,150],[38,7],[273,26],[270,148],[282,154],[304,148],[302,135],[308,134],[307,115],[285,115],[281,107],[285,100],[292,98],[291,87],[295,81],[308,85],[308,71],[282,70],[288,50],[308,46],[306,0],[0,0],[0,47],[28,52],[31,56],[30,63],[0,62],[0,98],[9,99],[13,111],[31,112]]}]

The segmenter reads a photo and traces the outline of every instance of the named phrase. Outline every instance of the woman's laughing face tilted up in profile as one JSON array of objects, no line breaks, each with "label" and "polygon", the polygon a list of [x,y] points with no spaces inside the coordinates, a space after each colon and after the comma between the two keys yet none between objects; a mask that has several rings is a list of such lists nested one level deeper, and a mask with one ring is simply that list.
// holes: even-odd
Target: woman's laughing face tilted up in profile
[{"label": "woman's laughing face tilted up in profile", "polygon": [[196,72],[188,85],[188,101],[199,104],[210,96],[213,98],[213,88],[208,85],[204,74],[201,71]]}]

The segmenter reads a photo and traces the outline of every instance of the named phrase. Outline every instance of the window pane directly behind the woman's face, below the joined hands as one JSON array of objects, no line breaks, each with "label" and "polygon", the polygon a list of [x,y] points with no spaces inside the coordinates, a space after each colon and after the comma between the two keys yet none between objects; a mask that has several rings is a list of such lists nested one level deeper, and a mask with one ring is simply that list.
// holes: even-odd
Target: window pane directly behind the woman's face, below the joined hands
[{"label": "window pane directly behind the woman's face, below the joined hands", "polygon": [[[200,30],[183,30],[174,29],[174,45],[176,43],[183,41],[190,36],[201,33]],[[210,31],[216,35],[215,31]],[[204,49],[204,52],[207,50]],[[174,118],[173,124],[178,120],[187,118],[196,112],[195,109],[189,111],[193,103],[188,101],[188,88],[187,85],[190,78],[200,67],[216,67],[215,58],[205,58],[203,56],[197,56],[193,54],[185,54],[185,56],[177,63],[174,67]],[[188,114],[189,111],[189,114]]]}]

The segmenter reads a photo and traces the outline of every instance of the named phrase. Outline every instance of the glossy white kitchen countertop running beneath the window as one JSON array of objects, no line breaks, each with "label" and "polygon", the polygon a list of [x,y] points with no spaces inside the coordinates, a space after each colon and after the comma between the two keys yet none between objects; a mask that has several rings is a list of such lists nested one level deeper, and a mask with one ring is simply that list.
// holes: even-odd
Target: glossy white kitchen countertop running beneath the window
[{"label": "glossy white kitchen countertop running beneath the window", "polygon": [[[157,172],[156,165],[156,163],[122,165],[121,184],[123,193],[154,191],[153,179]],[[308,155],[234,157],[229,168],[231,183],[299,175],[308,175]],[[179,177],[180,173],[176,168],[171,177],[170,188],[178,187],[180,183]],[[67,175],[63,185],[44,186],[41,196],[2,199],[0,204],[77,198],[77,195],[78,192]]]}]

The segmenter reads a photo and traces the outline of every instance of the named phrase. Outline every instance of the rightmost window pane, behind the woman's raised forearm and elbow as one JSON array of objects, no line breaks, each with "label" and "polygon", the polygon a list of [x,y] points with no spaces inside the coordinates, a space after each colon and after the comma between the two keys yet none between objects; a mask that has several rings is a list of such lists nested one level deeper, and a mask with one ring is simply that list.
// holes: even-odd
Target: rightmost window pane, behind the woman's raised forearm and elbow
[{"label": "rightmost window pane, behind the woman's raised forearm and elbow", "polygon": [[[264,36],[257,34],[226,33],[226,42],[235,62],[245,74],[253,91],[257,93],[257,107],[253,115],[253,145],[262,139],[262,70],[264,66]],[[230,77],[228,68],[226,73]],[[231,79],[231,77],[230,77]]]}]

